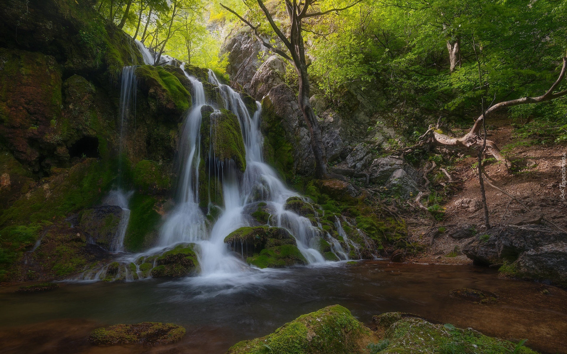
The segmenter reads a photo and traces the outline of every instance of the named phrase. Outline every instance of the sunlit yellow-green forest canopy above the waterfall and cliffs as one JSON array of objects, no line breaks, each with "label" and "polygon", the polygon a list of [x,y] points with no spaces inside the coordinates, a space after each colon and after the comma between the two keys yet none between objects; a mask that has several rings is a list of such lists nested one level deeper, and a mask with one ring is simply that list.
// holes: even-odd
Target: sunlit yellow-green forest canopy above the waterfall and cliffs
[{"label": "sunlit yellow-green forest canopy above the waterfall and cliffs", "polygon": [[[289,28],[285,1],[265,4],[274,21]],[[282,47],[258,2],[222,5]],[[222,40],[246,30],[217,0],[102,0],[94,6],[148,48],[220,71],[227,65]],[[489,104],[541,95],[557,78],[567,50],[565,0],[325,0],[312,7],[324,13],[303,25],[312,84],[336,106],[349,84],[383,88],[384,105],[408,136],[423,133],[427,120],[459,123],[475,116],[481,97]],[[327,13],[332,8],[342,10]],[[286,75],[293,87],[297,75]],[[519,134],[544,142],[567,139],[565,97],[509,113]]]}]

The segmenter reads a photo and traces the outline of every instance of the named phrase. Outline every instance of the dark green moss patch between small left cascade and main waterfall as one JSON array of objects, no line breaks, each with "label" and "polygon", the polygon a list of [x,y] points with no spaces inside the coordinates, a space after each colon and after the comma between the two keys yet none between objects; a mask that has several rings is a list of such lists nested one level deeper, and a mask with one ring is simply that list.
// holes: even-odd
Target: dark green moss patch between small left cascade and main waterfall
[{"label": "dark green moss patch between small left cascade and main waterfall", "polygon": [[134,194],[130,199],[130,220],[124,237],[126,249],[137,252],[151,246],[158,233],[162,217],[155,211],[156,199],[149,195]]}]

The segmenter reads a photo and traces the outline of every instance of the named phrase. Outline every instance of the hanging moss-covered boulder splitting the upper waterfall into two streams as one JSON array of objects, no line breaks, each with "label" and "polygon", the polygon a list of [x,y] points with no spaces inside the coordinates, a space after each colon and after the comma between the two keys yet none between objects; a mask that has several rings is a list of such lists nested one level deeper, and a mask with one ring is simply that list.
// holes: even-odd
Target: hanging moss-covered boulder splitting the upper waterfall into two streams
[{"label": "hanging moss-covered boulder splitting the upper waterfall into two streams", "polygon": [[205,156],[221,162],[233,160],[244,172],[246,150],[238,118],[226,109],[214,112],[211,106],[203,106],[201,113],[201,144]]}]

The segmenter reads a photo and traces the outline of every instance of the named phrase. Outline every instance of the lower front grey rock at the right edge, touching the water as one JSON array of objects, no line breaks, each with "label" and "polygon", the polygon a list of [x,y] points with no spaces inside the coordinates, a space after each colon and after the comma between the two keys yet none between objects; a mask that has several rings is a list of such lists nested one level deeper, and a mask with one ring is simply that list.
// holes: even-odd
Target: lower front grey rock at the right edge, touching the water
[{"label": "lower front grey rock at the right edge, touching the water", "polygon": [[567,243],[555,242],[526,251],[515,264],[517,275],[567,286]]}]

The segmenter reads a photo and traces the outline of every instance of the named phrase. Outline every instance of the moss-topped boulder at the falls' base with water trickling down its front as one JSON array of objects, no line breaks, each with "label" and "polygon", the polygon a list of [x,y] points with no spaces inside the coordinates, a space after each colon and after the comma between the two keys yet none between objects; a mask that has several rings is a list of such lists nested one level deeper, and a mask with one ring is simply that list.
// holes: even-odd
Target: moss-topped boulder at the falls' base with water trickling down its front
[{"label": "moss-topped boulder at the falls' base with water trickling down its front", "polygon": [[244,257],[251,257],[268,248],[282,245],[295,246],[295,238],[286,229],[279,227],[257,226],[241,227],[225,237],[225,243]]}]

